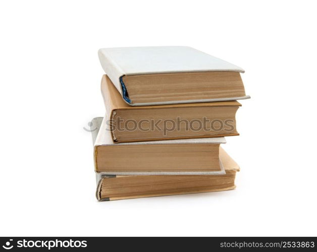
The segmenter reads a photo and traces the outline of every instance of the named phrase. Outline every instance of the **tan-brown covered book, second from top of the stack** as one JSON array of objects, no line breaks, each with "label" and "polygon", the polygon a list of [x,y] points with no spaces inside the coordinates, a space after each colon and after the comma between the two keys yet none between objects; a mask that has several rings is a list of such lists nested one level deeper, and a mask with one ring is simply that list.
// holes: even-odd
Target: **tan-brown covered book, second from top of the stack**
[{"label": "tan-brown covered book, second from top of the stack", "polygon": [[237,101],[130,106],[108,76],[101,93],[115,143],[237,136]]}]

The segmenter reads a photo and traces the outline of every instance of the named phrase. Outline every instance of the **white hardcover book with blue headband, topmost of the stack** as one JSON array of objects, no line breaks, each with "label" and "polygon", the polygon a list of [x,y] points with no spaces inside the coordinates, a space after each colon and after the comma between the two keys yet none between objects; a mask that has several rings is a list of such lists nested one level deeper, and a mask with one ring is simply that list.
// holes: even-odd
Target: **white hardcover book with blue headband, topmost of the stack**
[{"label": "white hardcover book with blue headband, topmost of the stack", "polygon": [[240,76],[243,69],[191,47],[102,48],[98,56],[132,106],[250,98]]}]

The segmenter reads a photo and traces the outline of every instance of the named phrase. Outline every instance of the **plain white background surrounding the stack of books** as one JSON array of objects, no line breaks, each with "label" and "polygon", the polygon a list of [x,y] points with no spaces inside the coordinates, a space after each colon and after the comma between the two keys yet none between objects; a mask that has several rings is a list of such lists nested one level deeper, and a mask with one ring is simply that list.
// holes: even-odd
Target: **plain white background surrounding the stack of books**
[{"label": "plain white background surrounding the stack of books", "polygon": [[[0,235],[317,235],[313,1],[3,1]],[[188,45],[245,69],[233,191],[98,203],[101,47]]]}]

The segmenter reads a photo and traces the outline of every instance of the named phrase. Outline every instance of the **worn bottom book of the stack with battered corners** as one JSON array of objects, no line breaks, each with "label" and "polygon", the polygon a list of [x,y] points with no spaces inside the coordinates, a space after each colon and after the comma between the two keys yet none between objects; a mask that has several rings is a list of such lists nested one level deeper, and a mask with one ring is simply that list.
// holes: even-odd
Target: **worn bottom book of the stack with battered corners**
[{"label": "worn bottom book of the stack with battered corners", "polygon": [[[92,120],[91,133],[96,141],[102,117]],[[218,192],[235,188],[238,164],[220,147],[220,160],[225,169],[223,174],[213,175],[114,175],[96,173],[98,201]]]}]

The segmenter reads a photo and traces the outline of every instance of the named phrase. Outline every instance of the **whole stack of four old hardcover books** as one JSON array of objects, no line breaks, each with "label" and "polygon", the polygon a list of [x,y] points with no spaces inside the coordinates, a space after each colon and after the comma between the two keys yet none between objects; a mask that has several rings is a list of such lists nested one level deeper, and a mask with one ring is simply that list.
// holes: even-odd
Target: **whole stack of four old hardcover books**
[{"label": "whole stack of four old hardcover books", "polygon": [[235,188],[239,166],[221,145],[239,135],[243,69],[186,46],[98,55],[107,111],[91,123],[99,201]]}]

